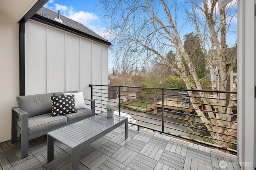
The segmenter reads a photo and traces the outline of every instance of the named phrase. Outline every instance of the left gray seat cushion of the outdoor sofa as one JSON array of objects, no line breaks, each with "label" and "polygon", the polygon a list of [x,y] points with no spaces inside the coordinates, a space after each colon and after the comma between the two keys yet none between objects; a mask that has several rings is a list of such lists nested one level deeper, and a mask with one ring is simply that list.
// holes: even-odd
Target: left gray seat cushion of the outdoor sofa
[{"label": "left gray seat cushion of the outdoor sofa", "polygon": [[46,113],[28,118],[28,134],[36,133],[68,122],[67,117],[60,115],[51,117],[52,113]]}]

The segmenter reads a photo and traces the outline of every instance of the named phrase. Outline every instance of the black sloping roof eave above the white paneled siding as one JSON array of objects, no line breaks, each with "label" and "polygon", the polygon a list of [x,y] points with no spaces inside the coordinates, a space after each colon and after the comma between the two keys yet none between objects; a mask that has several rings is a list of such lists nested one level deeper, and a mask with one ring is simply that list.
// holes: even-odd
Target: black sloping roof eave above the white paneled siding
[{"label": "black sloping roof eave above the white paneled siding", "polygon": [[88,39],[92,39],[94,41],[97,41],[97,42],[100,42],[100,43],[103,43],[105,45],[111,45],[110,42],[108,41],[104,41],[103,39],[100,39],[100,38],[97,38],[97,37],[94,37],[92,35],[89,35],[87,33],[84,33],[82,31],[79,31],[77,29],[74,29],[72,27],[69,27],[67,25],[64,25],[62,23],[59,23],[58,21],[53,21],[53,20],[50,20],[48,18],[45,18],[43,16],[40,16],[38,14],[34,14],[34,16],[32,16],[30,19],[32,20],[35,20],[35,21],[39,21],[39,22],[42,22],[42,23],[45,23],[47,25],[51,25],[53,27],[57,27],[59,29],[62,29],[62,30],[65,30],[65,31],[68,31],[70,33],[74,33],[76,35],[79,35],[79,36],[82,36],[82,37],[85,37],[85,38],[88,38]]}]

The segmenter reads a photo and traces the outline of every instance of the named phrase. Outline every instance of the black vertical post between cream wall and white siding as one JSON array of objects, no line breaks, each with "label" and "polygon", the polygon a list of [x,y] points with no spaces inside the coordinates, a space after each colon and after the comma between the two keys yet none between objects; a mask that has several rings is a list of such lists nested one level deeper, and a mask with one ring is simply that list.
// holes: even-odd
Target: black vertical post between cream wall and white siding
[{"label": "black vertical post between cream wall and white siding", "polygon": [[20,96],[25,96],[25,22],[19,28]]}]

